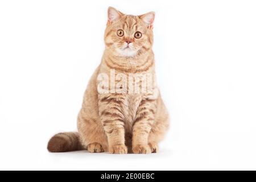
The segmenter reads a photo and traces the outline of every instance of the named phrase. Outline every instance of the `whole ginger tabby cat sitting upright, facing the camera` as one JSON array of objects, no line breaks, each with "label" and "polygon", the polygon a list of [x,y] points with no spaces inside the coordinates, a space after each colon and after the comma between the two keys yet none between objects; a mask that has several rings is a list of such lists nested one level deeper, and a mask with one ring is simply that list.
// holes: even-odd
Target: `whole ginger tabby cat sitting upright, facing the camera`
[{"label": "whole ginger tabby cat sitting upright, facing the camera", "polygon": [[[88,150],[110,154],[150,154],[158,152],[158,143],[168,129],[168,112],[158,92],[127,93],[127,85],[115,92],[106,81],[101,90],[100,78],[111,74],[155,74],[152,52],[155,13],[126,15],[109,7],[105,30],[105,51],[85,90],[77,118],[77,132],[59,133],[48,142],[49,152]],[[105,74],[105,76],[104,76]],[[116,81],[117,78],[114,78]],[[156,80],[153,78],[154,83]],[[139,84],[142,80],[129,84]],[[99,86],[101,85],[101,86]],[[154,84],[156,85],[156,84]],[[119,89],[120,89],[119,88]],[[102,90],[101,90],[102,91]],[[156,93],[156,94],[155,94]]]}]

